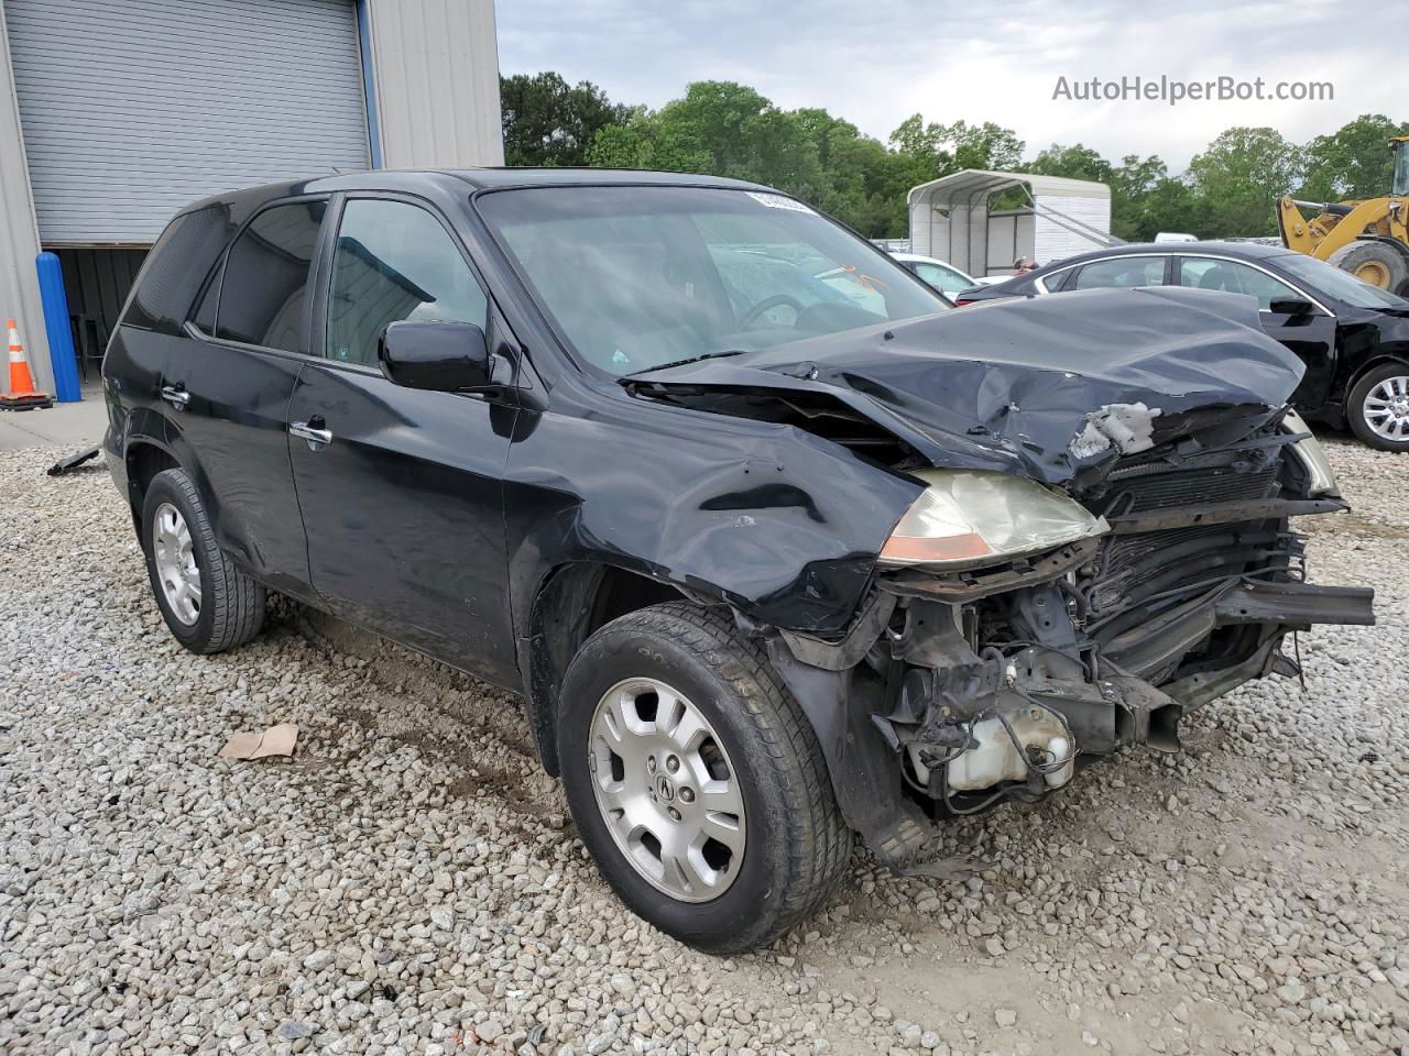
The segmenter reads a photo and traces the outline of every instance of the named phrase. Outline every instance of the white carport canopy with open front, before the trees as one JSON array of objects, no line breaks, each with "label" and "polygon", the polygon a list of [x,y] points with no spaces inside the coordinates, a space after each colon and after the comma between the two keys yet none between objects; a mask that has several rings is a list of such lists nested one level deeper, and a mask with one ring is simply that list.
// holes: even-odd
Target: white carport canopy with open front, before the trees
[{"label": "white carport canopy with open front, before the trees", "polygon": [[[989,199],[1009,187],[1023,187],[1030,208],[989,217]],[[1017,258],[1050,263],[1119,242],[1110,187],[1065,176],[964,169],[912,187],[909,211],[910,252],[975,276],[1010,272]]]}]

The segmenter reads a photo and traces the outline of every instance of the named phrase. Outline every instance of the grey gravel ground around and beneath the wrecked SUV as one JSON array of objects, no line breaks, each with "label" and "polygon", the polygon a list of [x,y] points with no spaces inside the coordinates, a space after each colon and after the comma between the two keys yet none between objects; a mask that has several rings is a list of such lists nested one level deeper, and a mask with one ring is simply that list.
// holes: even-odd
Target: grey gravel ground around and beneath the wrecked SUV
[{"label": "grey gravel ground around and beneath the wrecked SUV", "polygon": [[[1374,629],[1303,638],[1065,794],[712,959],[623,911],[513,700],[317,614],[180,650],[104,470],[0,455],[6,1053],[1386,1053],[1409,1043],[1409,462],[1305,524]],[[217,759],[300,728],[293,759]]]}]

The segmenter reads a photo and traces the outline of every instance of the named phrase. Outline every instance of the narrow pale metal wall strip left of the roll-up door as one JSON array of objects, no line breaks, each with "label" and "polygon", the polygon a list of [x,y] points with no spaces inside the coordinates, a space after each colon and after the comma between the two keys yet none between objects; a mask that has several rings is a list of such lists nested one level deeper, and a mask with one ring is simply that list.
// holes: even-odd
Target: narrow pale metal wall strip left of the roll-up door
[{"label": "narrow pale metal wall strip left of the roll-up door", "polygon": [[[30,173],[24,162],[24,137],[20,134],[7,39],[4,8],[0,7],[0,325],[7,317],[14,317],[30,353],[35,384],[52,390],[49,344],[44,339],[39,280],[34,270],[39,235],[34,227],[34,201],[30,199]],[[0,389],[8,387],[10,372],[6,370],[0,376]]]}]

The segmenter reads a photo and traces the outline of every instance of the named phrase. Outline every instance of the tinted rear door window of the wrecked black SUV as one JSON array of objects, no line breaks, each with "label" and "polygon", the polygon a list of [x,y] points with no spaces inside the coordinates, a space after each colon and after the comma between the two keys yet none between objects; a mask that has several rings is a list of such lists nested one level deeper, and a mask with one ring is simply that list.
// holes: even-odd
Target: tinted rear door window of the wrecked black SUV
[{"label": "tinted rear door window of the wrecked black SUV", "polygon": [[273,206],[241,232],[225,260],[216,337],[307,352],[303,308],[324,213],[325,201]]}]

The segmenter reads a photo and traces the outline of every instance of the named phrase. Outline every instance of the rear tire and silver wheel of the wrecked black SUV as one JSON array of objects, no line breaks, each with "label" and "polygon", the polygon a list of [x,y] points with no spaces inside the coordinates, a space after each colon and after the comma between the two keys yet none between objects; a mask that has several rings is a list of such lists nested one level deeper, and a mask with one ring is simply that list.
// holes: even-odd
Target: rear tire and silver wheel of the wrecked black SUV
[{"label": "rear tire and silver wheel of the wrecked black SUV", "polygon": [[[187,545],[173,546],[169,541],[182,538],[182,525]],[[206,507],[185,470],[166,469],[152,477],[142,497],[141,542],[152,596],[178,642],[193,653],[218,653],[259,634],[265,589],[216,545]],[[172,553],[178,556],[163,556]],[[172,560],[186,572],[194,567],[197,576],[173,574]],[[182,583],[189,589],[182,590]]]}]

